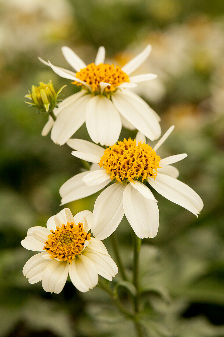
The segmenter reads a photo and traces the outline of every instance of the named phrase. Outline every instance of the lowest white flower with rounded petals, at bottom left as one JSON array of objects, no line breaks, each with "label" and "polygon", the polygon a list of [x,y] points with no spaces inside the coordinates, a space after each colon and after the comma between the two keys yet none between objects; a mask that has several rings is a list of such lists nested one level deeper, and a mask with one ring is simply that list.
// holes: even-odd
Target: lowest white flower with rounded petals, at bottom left
[{"label": "lowest white flower with rounded petals, at bottom left", "polygon": [[42,281],[46,292],[59,294],[68,278],[80,292],[98,283],[98,274],[112,281],[117,266],[104,244],[91,237],[92,212],[74,217],[68,208],[47,220],[47,227],[31,227],[21,241],[23,247],[41,252],[32,256],[23,268],[30,283]]}]

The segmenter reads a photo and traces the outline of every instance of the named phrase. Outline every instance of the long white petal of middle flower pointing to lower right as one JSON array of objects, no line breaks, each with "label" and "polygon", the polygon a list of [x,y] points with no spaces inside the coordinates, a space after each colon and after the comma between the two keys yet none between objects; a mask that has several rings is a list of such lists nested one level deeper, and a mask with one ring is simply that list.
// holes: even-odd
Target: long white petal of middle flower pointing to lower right
[{"label": "long white petal of middle flower pointing to lower right", "polygon": [[203,208],[199,195],[188,185],[173,177],[158,173],[155,181],[148,179],[148,182],[166,199],[186,208],[196,216]]}]

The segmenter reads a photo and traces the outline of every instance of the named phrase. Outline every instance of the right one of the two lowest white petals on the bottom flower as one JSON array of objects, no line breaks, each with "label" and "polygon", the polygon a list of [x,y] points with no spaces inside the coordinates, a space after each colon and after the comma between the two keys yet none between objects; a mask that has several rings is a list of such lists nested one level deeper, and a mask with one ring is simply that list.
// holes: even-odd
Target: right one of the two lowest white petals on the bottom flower
[{"label": "right one of the two lowest white petals on the bottom flower", "polygon": [[70,264],[69,276],[74,286],[83,293],[92,289],[98,283],[98,274],[95,265],[83,254],[79,255],[72,261],[72,264]]}]

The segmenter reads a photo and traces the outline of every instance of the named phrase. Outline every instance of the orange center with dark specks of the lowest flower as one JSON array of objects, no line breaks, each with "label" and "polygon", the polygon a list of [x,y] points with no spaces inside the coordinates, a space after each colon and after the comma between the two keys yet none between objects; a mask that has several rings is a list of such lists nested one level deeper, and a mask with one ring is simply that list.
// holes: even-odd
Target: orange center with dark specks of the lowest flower
[{"label": "orange center with dark specks of the lowest flower", "polygon": [[72,259],[81,254],[86,240],[91,240],[90,233],[83,230],[83,223],[74,225],[73,222],[63,223],[62,227],[56,227],[55,231],[51,229],[48,235],[49,240],[45,242],[44,249],[51,254],[52,258],[60,261],[72,262]]}]

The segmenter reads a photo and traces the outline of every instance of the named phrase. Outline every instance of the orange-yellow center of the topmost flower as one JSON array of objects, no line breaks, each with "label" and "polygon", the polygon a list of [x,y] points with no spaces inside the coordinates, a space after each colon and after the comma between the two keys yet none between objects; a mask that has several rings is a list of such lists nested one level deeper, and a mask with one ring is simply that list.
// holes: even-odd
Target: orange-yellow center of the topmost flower
[{"label": "orange-yellow center of the topmost flower", "polygon": [[[86,68],[81,69],[76,73],[76,77],[89,84],[92,91],[100,91],[100,83],[109,83],[110,86],[105,88],[105,92],[112,92],[116,90],[116,87],[121,83],[129,82],[128,75],[123,70],[114,64],[90,63]],[[77,81],[73,82],[77,86],[83,86],[83,84]]]}]

